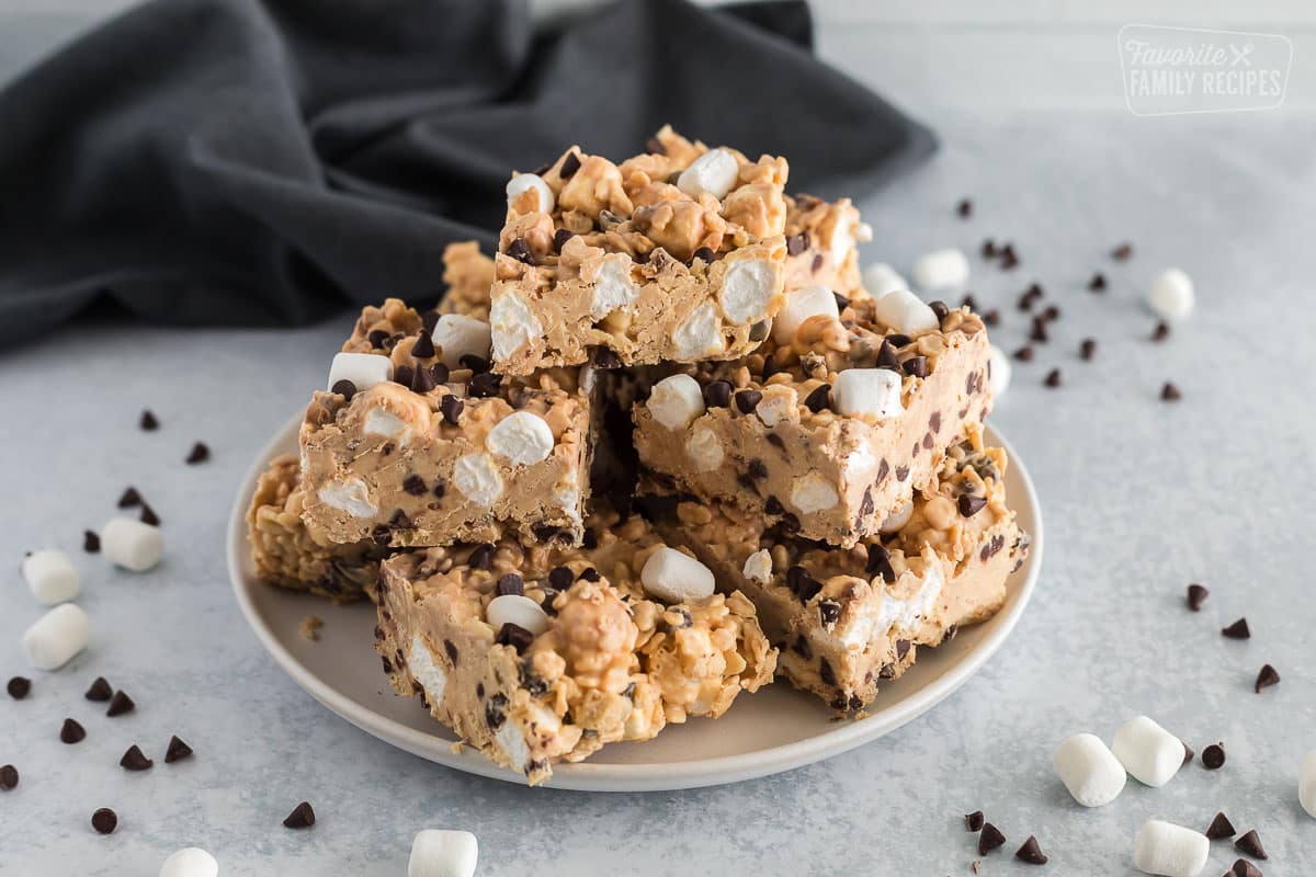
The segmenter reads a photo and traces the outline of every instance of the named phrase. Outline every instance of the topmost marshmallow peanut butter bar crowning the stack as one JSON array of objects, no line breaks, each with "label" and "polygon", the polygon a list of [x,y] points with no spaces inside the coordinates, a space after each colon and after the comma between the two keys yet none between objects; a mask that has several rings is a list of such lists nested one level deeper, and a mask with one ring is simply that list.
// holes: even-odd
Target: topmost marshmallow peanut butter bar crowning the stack
[{"label": "topmost marshmallow peanut butter bar crowning the stack", "polygon": [[613,164],[572,146],[508,184],[490,323],[501,373],[732,359],[782,304],[787,164],[691,143]]}]

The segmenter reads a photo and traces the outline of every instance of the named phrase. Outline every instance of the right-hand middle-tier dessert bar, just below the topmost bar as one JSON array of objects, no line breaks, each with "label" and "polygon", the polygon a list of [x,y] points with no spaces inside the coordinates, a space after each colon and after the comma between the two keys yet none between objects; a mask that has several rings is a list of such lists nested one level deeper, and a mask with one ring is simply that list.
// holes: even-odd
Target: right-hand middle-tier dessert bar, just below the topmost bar
[{"label": "right-hand middle-tier dessert bar, just below the topmost bar", "polygon": [[[741,360],[669,379],[754,391],[750,413],[697,404],[675,412],[659,381],[634,409],[641,463],[700,498],[850,547],[878,533],[991,408],[991,346],[965,309],[937,321],[894,292],[838,312],[830,296],[797,291],[772,335]],[[750,468],[759,475],[745,477]]]}]

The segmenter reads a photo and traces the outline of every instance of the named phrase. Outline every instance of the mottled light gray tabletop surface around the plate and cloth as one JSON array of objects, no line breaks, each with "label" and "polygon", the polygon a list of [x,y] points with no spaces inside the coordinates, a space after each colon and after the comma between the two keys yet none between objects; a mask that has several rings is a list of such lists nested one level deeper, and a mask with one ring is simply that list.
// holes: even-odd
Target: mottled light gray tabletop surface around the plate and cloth
[{"label": "mottled light gray tabletop surface around the plate and cloth", "polygon": [[[116,8],[0,1],[0,76]],[[1003,16],[976,4],[824,3],[822,54],[930,122],[944,150],[861,208],[875,229],[867,260],[908,270],[921,251],[983,237],[1012,239],[1023,266],[974,258],[971,288],[1004,321],[1032,280],[1063,309],[1051,343],[994,415],[1042,497],[1046,564],[1011,640],[929,715],[858,751],[734,786],[658,794],[526,790],[430,765],[375,742],[297,689],[247,630],[229,592],[224,523],[241,475],[324,380],[343,314],[299,331],[172,331],[75,326],[0,355],[4,504],[0,677],[36,678],[0,696],[0,763],[22,772],[0,793],[0,874],[154,874],[172,849],[216,853],[221,873],[405,872],[412,835],[463,827],[480,840],[482,876],[504,874],[969,874],[983,809],[1009,838],[987,874],[1034,873],[1009,860],[1028,834],[1050,855],[1036,873],[1130,874],[1146,818],[1204,828],[1223,809],[1258,828],[1267,874],[1316,870],[1316,820],[1296,801],[1302,756],[1316,749],[1316,602],[1312,471],[1316,413],[1316,78],[1312,13],[1298,4],[1030,3]],[[1294,39],[1288,100],[1275,112],[1134,118],[1121,93],[1116,30],[1178,22],[1284,33]],[[21,120],[0,120],[16,125]],[[782,120],[790,124],[790,120]],[[820,133],[825,135],[825,133]],[[970,222],[953,205],[971,196]],[[1129,239],[1126,264],[1107,251]],[[1140,295],[1178,264],[1198,281],[1198,313],[1165,344]],[[1101,270],[1111,288],[1083,289]],[[21,333],[22,327],[7,327]],[[1094,337],[1094,363],[1078,360]],[[1046,389],[1051,367],[1065,387]],[[1157,400],[1174,380],[1183,401]],[[150,406],[163,422],[137,430]],[[184,467],[196,439],[215,459]],[[164,519],[166,561],[116,573],[79,551],[126,484]],[[83,571],[92,647],[58,673],[30,673],[18,648],[38,617],[14,572],[28,548],[68,548]],[[1202,581],[1200,614],[1182,604]],[[1250,642],[1219,628],[1246,615]],[[1283,682],[1252,681],[1273,663]],[[97,675],[138,710],[107,719],[82,699]],[[1169,786],[1129,782],[1086,811],[1054,778],[1066,735],[1109,735],[1146,713],[1199,752],[1224,740],[1229,761],[1186,768]],[[88,730],[59,743],[62,719]],[[170,734],[197,751],[163,765]],[[157,759],[129,774],[130,743]],[[320,822],[279,822],[307,798]],[[95,835],[99,806],[118,832]],[[1207,874],[1233,861],[1216,844]]]}]

